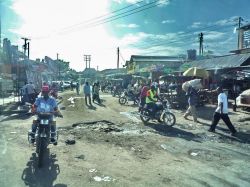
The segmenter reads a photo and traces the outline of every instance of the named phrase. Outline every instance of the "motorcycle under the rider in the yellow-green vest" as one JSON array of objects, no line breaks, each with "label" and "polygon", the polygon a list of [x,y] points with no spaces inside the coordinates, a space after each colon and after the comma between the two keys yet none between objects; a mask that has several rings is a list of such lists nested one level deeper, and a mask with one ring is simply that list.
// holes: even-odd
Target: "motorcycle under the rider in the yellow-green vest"
[{"label": "motorcycle under the rider in the yellow-green vest", "polygon": [[140,118],[143,123],[147,123],[149,120],[158,120],[158,122],[164,122],[165,125],[173,126],[176,122],[174,113],[170,110],[168,100],[162,100],[156,103],[157,110],[155,114],[152,114],[152,109],[145,105],[140,109]]}]

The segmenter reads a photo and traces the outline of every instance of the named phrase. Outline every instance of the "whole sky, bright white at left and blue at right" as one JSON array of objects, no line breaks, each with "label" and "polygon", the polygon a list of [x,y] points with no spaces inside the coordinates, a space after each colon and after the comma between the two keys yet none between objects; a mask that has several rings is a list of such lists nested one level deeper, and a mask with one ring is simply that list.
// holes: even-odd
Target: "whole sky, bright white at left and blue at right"
[{"label": "whole sky, bright white at left and blue at right", "polygon": [[0,0],[2,38],[21,49],[30,40],[30,58],[49,56],[76,71],[120,67],[131,55],[179,56],[199,49],[228,54],[237,48],[238,18],[250,21],[249,0]]}]

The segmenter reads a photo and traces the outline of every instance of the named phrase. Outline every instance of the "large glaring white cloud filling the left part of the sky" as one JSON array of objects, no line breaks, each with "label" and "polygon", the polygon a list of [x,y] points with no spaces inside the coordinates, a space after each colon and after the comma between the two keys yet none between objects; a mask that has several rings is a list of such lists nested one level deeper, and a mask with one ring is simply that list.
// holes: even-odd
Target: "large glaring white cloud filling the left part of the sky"
[{"label": "large glaring white cloud filling the left part of the sky", "polygon": [[[84,24],[79,24],[107,14],[108,3],[108,0],[75,0],[74,3],[67,0],[17,0],[12,8],[23,24],[12,32],[31,38],[31,59],[45,55],[55,59],[59,53],[60,58],[70,61],[70,66],[80,71],[85,68],[83,55],[90,54],[92,67],[116,67],[119,41],[109,35],[105,25],[86,29]],[[22,44],[23,41],[17,42]]]}]

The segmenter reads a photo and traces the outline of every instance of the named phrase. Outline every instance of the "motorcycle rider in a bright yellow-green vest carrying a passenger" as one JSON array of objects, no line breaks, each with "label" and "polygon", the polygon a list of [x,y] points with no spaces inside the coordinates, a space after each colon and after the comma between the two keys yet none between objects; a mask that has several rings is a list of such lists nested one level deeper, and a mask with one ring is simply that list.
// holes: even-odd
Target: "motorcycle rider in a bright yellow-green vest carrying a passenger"
[{"label": "motorcycle rider in a bright yellow-green vest carrying a passenger", "polygon": [[157,110],[157,91],[154,85],[151,85],[150,89],[147,91],[146,104],[152,109],[151,115],[154,116]]}]

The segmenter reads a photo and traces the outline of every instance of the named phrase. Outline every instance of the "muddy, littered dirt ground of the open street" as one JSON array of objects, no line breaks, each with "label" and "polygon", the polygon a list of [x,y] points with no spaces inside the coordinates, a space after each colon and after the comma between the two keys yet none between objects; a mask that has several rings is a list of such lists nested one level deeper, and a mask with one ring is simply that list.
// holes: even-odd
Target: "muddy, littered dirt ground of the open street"
[{"label": "muddy, littered dirt ground of the open street", "polygon": [[[37,168],[35,148],[27,141],[34,117],[1,116],[0,187],[44,186],[250,186],[249,113],[232,112],[239,131],[231,137],[225,124],[207,131],[215,106],[198,109],[200,123],[143,124],[137,107],[101,95],[103,104],[85,105],[74,92],[61,93],[63,119],[57,119],[59,143]],[[74,97],[74,102],[71,102]],[[190,118],[191,119],[191,118]],[[67,145],[66,140],[75,140]]]}]

